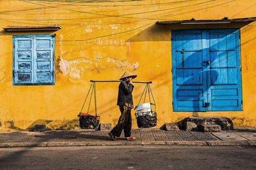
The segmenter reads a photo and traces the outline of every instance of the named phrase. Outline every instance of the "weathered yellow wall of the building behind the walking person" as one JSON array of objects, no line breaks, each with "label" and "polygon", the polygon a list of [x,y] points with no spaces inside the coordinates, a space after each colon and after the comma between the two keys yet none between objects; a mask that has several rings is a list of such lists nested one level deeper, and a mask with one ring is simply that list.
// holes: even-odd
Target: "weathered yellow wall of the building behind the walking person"
[{"label": "weathered yellow wall of the building behind the walking person", "polygon": [[[56,33],[53,86],[13,86],[11,35],[40,32],[11,33],[3,29],[0,32],[0,122],[13,120],[17,128],[26,129],[38,120],[72,120],[80,112],[89,80],[117,80],[128,70],[138,74],[137,81],[153,82],[158,127],[188,116],[225,116],[232,118],[235,126],[256,127],[255,22],[225,25],[242,27],[241,112],[172,112],[171,29],[179,27],[155,24],[191,18],[253,17],[256,16],[254,0],[92,2],[0,1],[1,29],[8,25],[60,24],[62,27],[56,32],[46,32]],[[96,86],[101,122],[115,124],[119,117],[118,83]],[[143,84],[135,84],[135,104],[143,89]],[[93,109],[90,113],[94,113]],[[133,128],[137,128],[132,114]]]}]

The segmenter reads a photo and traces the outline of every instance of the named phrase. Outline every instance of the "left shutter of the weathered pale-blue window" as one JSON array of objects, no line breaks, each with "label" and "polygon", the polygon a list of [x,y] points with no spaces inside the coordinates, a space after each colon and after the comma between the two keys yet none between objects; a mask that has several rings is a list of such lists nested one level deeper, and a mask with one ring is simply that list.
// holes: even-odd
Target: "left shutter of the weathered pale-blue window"
[{"label": "left shutter of the weathered pale-blue window", "polygon": [[26,37],[14,37],[13,83],[31,84],[34,75],[32,72],[33,43]]}]

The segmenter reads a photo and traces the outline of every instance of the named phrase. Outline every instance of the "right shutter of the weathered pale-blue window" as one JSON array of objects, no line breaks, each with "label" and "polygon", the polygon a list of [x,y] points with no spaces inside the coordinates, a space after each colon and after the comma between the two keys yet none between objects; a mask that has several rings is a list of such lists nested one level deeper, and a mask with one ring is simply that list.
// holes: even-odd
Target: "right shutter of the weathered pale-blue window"
[{"label": "right shutter of the weathered pale-blue window", "polygon": [[36,37],[34,39],[34,81],[36,84],[54,83],[54,37]]}]

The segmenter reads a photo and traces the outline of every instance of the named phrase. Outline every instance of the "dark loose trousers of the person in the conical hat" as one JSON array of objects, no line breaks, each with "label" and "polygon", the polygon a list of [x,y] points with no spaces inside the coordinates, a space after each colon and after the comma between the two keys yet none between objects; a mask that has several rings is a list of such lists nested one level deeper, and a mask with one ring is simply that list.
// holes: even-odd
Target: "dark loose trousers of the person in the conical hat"
[{"label": "dark loose trousers of the person in the conical hat", "polygon": [[125,132],[125,137],[131,136],[131,108],[125,105],[119,105],[121,116],[117,125],[110,131],[115,137],[120,137],[122,130]]}]

